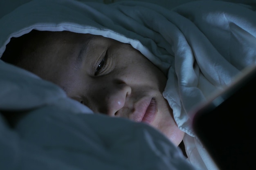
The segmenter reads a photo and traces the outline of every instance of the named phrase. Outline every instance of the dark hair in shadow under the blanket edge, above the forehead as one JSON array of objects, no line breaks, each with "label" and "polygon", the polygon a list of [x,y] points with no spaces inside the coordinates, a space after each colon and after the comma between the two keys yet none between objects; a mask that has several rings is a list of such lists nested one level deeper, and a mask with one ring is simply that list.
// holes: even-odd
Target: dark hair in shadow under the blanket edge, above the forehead
[{"label": "dark hair in shadow under the blanket edge, above the forehead", "polygon": [[[63,34],[64,33],[64,34]],[[70,34],[69,31],[37,31],[24,34],[18,38],[11,38],[6,45],[6,49],[0,58],[4,62],[24,68],[35,73],[35,68],[40,69],[39,76],[43,76],[45,68],[41,67],[41,63],[45,62],[45,56],[38,53],[38,49],[51,45],[52,40],[60,41],[60,44],[68,43],[69,39],[65,35]]]}]

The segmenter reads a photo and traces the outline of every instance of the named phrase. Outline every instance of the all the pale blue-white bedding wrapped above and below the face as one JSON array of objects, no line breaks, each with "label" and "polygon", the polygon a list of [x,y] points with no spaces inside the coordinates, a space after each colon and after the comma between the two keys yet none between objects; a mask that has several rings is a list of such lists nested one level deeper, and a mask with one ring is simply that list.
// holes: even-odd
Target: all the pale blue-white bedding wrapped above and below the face
[{"label": "all the pale blue-white bedding wrapped above and below the face", "polygon": [[163,95],[186,132],[188,158],[154,128],[94,114],[55,84],[0,60],[1,169],[218,169],[190,113],[256,63],[254,0],[24,2],[2,10],[0,56],[12,37],[32,29],[131,44],[168,76]]}]

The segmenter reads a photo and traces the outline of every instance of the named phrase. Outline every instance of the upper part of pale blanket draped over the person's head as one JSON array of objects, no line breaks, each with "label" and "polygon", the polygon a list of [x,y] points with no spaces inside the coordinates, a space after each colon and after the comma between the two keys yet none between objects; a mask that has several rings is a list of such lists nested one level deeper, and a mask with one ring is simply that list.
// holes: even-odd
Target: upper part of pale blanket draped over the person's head
[{"label": "upper part of pale blanket draped over the person's head", "polygon": [[0,25],[7,26],[0,27],[0,55],[11,37],[32,29],[91,33],[130,43],[168,75],[163,95],[186,132],[188,159],[199,168],[214,170],[217,167],[191,128],[192,111],[255,64],[255,1],[246,2],[254,6],[207,0],[170,11],[140,2],[35,0],[1,18]]}]

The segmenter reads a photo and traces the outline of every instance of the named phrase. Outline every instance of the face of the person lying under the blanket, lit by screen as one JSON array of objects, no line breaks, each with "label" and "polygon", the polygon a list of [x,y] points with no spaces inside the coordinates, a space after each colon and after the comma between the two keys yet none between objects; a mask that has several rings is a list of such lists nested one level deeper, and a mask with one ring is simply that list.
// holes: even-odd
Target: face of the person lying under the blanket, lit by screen
[{"label": "face of the person lying under the blanket, lit by screen", "polygon": [[162,96],[166,77],[139,51],[97,35],[67,31],[46,35],[36,49],[44,60],[33,67],[34,73],[96,113],[145,122],[180,144],[184,132]]}]

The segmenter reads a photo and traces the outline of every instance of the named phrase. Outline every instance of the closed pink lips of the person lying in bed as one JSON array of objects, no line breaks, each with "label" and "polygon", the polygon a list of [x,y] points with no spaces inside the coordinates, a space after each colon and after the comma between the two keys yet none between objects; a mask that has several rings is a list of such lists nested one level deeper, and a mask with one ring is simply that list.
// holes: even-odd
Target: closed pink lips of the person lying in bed
[{"label": "closed pink lips of the person lying in bed", "polygon": [[157,113],[157,102],[154,98],[144,100],[135,109],[135,121],[151,124]]}]

